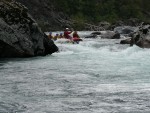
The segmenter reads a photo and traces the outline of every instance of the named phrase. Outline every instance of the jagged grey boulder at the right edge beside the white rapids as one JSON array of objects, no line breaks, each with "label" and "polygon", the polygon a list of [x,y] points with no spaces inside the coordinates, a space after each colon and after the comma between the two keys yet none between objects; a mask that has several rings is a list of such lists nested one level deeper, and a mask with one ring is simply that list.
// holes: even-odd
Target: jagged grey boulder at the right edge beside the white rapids
[{"label": "jagged grey boulder at the right edge beside the white rapids", "polygon": [[132,34],[131,46],[136,44],[141,48],[150,48],[150,25],[140,26],[137,32]]}]

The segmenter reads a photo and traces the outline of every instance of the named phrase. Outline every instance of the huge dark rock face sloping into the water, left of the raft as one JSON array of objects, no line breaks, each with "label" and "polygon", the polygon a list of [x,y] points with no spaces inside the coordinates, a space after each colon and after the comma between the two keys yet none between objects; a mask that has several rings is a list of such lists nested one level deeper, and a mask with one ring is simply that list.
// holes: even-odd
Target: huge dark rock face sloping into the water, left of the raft
[{"label": "huge dark rock face sloping into the water, left of the raft", "polygon": [[32,57],[56,51],[56,45],[40,30],[26,7],[0,0],[0,57]]}]

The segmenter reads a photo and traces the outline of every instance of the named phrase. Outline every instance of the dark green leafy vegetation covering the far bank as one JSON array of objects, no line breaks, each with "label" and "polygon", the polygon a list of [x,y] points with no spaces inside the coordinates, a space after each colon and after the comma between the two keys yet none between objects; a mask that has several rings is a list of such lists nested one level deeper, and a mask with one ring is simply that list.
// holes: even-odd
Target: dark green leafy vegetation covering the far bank
[{"label": "dark green leafy vegetation covering the far bank", "polygon": [[148,21],[150,0],[52,0],[56,10],[63,11],[79,23],[115,22],[129,18]]}]

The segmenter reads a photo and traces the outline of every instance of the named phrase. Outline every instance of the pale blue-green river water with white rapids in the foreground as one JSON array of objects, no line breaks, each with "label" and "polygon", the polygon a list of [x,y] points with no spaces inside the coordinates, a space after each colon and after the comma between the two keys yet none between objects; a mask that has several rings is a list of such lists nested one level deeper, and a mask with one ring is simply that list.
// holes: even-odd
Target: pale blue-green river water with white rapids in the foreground
[{"label": "pale blue-green river water with white rapids in the foreground", "polygon": [[117,43],[84,39],[46,57],[1,59],[0,113],[149,113],[150,50]]}]

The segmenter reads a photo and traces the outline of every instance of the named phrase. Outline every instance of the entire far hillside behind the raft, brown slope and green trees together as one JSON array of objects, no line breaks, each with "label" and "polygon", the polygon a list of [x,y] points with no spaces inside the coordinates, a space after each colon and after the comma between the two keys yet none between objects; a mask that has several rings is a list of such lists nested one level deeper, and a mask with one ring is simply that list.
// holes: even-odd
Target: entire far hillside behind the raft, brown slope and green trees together
[{"label": "entire far hillside behind the raft, brown slope and green trees together", "polygon": [[[128,19],[150,22],[150,0],[17,0],[24,4],[43,31],[70,25],[78,30],[84,23],[110,24]],[[73,23],[73,24],[72,24]]]}]

